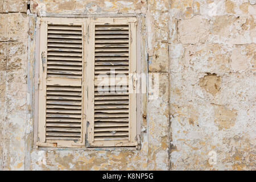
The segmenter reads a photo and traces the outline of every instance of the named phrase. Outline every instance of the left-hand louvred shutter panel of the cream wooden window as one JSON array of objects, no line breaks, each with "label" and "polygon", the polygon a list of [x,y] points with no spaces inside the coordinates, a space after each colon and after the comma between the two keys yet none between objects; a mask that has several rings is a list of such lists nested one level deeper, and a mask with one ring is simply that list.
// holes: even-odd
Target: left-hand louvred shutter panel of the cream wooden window
[{"label": "left-hand louvred shutter panel of the cream wooden window", "polygon": [[39,146],[82,146],[84,23],[45,18],[40,31]]}]

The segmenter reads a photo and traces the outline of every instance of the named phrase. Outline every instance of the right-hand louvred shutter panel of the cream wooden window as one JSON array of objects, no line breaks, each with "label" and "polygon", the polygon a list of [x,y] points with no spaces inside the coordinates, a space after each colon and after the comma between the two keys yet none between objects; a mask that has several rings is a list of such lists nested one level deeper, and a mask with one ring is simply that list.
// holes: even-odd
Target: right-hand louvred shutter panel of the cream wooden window
[{"label": "right-hand louvred shutter panel of the cream wooden window", "polygon": [[92,19],[89,32],[88,147],[136,146],[135,18]]}]

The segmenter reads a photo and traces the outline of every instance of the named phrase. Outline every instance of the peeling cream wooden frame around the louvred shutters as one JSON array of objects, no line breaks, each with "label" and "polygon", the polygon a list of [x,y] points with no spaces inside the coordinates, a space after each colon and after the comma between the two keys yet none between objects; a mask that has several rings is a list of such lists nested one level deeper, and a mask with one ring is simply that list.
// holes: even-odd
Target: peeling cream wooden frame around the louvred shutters
[{"label": "peeling cream wooden frame around the louvred shutters", "polygon": [[[84,34],[82,36],[82,41],[86,42],[86,36],[88,36],[88,32],[86,32],[86,28],[88,28],[88,25],[89,25],[89,22],[93,19],[93,18],[61,18],[64,20],[64,22],[66,22],[67,20],[70,21],[71,19],[73,20],[73,22],[77,22],[77,23],[84,23],[85,26],[83,28],[83,31],[84,31]],[[94,18],[95,19],[95,18]],[[99,19],[102,19],[102,18],[99,18]],[[129,17],[129,18],[119,18],[119,17],[115,17],[115,18],[104,18],[104,21],[107,20],[110,21],[110,22],[113,22],[113,19],[116,20],[121,20],[122,22],[123,21],[131,21],[131,22],[137,22],[137,17]],[[34,101],[34,113],[35,113],[35,117],[34,117],[34,148],[48,148],[48,147],[51,147],[51,149],[53,150],[56,150],[57,148],[81,148],[82,150],[93,150],[94,148],[98,148],[100,147],[100,145],[98,146],[86,146],[86,144],[88,143],[88,141],[85,141],[85,136],[88,136],[86,134],[86,114],[85,114],[85,118],[82,119],[82,143],[80,144],[77,144],[77,143],[73,143],[73,142],[60,142],[60,143],[46,143],[46,142],[40,142],[38,141],[38,138],[39,138],[39,135],[42,135],[42,133],[40,133],[39,131],[39,127],[42,128],[42,126],[39,126],[39,82],[40,82],[40,78],[39,78],[39,72],[40,72],[40,62],[42,61],[41,59],[41,56],[40,56],[40,44],[42,44],[42,42],[40,42],[40,22],[43,21],[51,21],[51,22],[55,22],[55,23],[61,23],[62,21],[60,21],[60,18],[47,18],[47,17],[43,17],[43,18],[37,18],[36,20],[36,40],[35,40],[35,78],[34,78],[34,85],[35,85],[35,92],[34,92],[34,98],[35,98],[35,101]],[[137,24],[137,23],[136,23]],[[135,32],[137,32],[137,37],[136,37],[136,47],[135,47],[135,52],[136,52],[136,55],[135,55],[135,59],[137,60],[136,61],[136,64],[137,64],[137,69],[136,69],[136,72],[137,73],[142,73],[142,67],[143,67],[143,63],[141,63],[141,43],[139,42],[139,39],[140,39],[140,35],[139,35],[139,28],[136,27],[135,28]],[[84,48],[84,45],[83,44],[83,48]],[[88,47],[86,47],[88,48]],[[84,70],[85,72],[88,71],[88,67],[87,67],[87,59],[88,57],[85,56],[86,55],[86,48],[84,48]],[[85,77],[86,77],[86,74],[85,74]],[[86,82],[86,78],[84,78],[84,81]],[[141,84],[140,82],[137,82],[137,88],[141,88]],[[84,83],[84,90],[86,89],[86,83]],[[84,92],[84,95],[86,95],[87,92]],[[122,148],[122,147],[125,147],[125,148],[130,148],[129,146],[132,146],[131,148],[135,149],[139,149],[139,142],[140,142],[140,139],[141,139],[141,121],[142,121],[142,108],[141,108],[141,105],[142,105],[142,100],[144,100],[144,97],[142,96],[143,94],[137,94],[137,97],[135,98],[136,100],[136,106],[137,106],[137,112],[136,112],[136,116],[137,117],[136,119],[134,119],[133,121],[135,121],[135,123],[133,123],[134,127],[135,127],[135,132],[133,133],[133,137],[136,141],[134,141],[134,143],[131,143],[131,144],[127,144],[127,143],[120,143],[120,144],[116,144],[115,146],[109,146],[106,145],[106,146],[102,146],[102,150],[104,150],[104,147],[108,147],[108,148]],[[88,98],[84,96],[84,100],[85,100],[85,103],[87,103],[88,101]],[[85,104],[86,105],[86,104]],[[85,108],[85,111],[86,111],[86,108]],[[138,141],[138,142],[137,142]],[[92,147],[92,148],[88,148],[88,147]]]}]

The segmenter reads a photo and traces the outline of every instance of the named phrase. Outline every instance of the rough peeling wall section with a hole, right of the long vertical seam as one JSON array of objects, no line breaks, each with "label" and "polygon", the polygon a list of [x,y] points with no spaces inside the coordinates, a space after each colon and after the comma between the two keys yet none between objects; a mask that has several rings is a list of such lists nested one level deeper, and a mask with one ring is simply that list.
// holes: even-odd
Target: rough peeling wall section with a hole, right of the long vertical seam
[{"label": "rough peeling wall section with a hole, right of the long vertical seam", "polygon": [[256,5],[171,1],[172,170],[255,170]]}]

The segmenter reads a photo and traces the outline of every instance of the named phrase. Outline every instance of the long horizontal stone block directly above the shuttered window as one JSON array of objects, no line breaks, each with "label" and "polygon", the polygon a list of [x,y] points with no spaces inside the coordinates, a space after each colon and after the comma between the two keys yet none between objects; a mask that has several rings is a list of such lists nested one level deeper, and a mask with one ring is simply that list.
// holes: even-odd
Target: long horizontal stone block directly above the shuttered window
[{"label": "long horizontal stone block directly above the shuttered window", "polygon": [[32,13],[69,13],[69,14],[99,14],[99,13],[141,13],[145,11],[145,1],[117,0],[32,0]]}]

